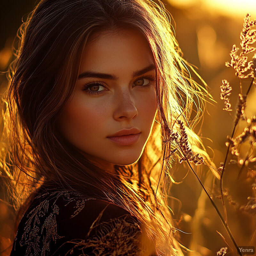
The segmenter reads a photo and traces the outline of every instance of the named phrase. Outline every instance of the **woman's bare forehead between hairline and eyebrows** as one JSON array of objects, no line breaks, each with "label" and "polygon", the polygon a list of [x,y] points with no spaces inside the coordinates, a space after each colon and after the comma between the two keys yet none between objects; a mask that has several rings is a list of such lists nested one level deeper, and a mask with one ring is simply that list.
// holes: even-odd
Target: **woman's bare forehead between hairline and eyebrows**
[{"label": "woman's bare forehead between hairline and eyebrows", "polygon": [[153,63],[147,39],[135,29],[123,28],[91,36],[84,48],[80,71],[130,72]]}]

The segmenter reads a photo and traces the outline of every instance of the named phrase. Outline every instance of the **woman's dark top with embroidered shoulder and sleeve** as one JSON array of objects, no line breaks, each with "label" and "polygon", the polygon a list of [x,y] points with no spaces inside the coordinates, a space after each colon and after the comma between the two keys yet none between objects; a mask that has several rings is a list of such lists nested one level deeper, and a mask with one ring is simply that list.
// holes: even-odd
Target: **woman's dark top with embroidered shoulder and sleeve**
[{"label": "woman's dark top with embroidered shoulder and sleeve", "polygon": [[10,256],[145,255],[140,225],[107,200],[40,189],[20,220]]}]

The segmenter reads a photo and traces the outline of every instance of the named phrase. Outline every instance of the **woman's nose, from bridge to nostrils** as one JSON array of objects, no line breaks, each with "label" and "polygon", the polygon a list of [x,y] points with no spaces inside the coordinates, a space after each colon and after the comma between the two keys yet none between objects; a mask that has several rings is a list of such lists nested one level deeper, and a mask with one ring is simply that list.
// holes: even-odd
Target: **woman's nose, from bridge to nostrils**
[{"label": "woman's nose, from bridge to nostrils", "polygon": [[117,121],[132,119],[138,116],[138,110],[129,91],[120,92],[115,97],[114,119]]}]

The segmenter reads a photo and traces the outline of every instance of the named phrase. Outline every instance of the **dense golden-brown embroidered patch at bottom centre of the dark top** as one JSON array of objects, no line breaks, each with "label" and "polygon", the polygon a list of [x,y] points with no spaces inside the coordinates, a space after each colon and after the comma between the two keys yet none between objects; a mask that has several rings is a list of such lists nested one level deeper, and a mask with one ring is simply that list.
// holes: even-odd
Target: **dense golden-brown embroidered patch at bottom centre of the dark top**
[{"label": "dense golden-brown embroidered patch at bottom centre of the dark top", "polygon": [[131,215],[125,214],[110,221],[101,222],[96,227],[96,234],[87,240],[69,241],[75,244],[65,254],[88,256],[85,250],[89,249],[90,256],[139,256],[144,255],[140,246],[141,229]]}]

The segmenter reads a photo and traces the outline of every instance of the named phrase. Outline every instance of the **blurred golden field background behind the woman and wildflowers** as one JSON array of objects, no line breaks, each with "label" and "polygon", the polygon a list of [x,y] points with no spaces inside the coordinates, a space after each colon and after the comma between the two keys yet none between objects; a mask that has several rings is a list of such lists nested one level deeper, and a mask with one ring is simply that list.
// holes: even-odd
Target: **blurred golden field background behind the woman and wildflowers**
[{"label": "blurred golden field background behind the woman and wildflowers", "polygon": [[[0,71],[6,71],[13,60],[12,42],[23,20],[27,19],[29,12],[38,1],[35,0],[1,0],[0,5]],[[197,127],[197,132],[202,136],[208,153],[216,164],[224,161],[227,147],[227,135],[231,135],[233,120],[222,110],[224,107],[220,100],[220,85],[222,79],[227,79],[233,91],[230,97],[232,109],[235,109],[239,82],[234,75],[234,70],[225,67],[225,61],[230,60],[229,52],[232,45],[240,44],[240,31],[243,27],[243,18],[246,13],[251,14],[251,19],[256,19],[255,0],[165,0],[167,10],[172,14],[172,24],[176,31],[176,38],[184,53],[184,58],[195,65],[198,73],[210,87],[210,93],[216,103],[207,104],[203,116],[203,125]],[[249,82],[247,82],[249,83]],[[7,86],[5,73],[0,74],[0,92]],[[245,82],[245,86],[248,86]],[[247,87],[244,89],[247,90]],[[252,88],[246,106],[246,115],[256,114],[256,92]],[[234,117],[234,114],[233,114]],[[239,122],[238,131],[242,131],[245,124]],[[1,123],[2,128],[2,123]],[[213,209],[204,191],[188,167],[174,166],[174,180],[170,194],[170,206],[174,211],[174,219],[179,223],[181,243],[193,250],[188,255],[216,255],[216,252],[230,244],[227,255],[236,254],[226,231]],[[256,211],[245,205],[248,196],[255,197],[252,186],[255,183],[255,171],[241,170],[241,165],[229,164],[223,175],[225,203],[228,212],[228,225],[239,246],[256,245]],[[212,191],[212,197],[222,211],[218,199],[219,182],[204,166],[199,169],[205,187]],[[186,178],[184,178],[186,176]],[[183,179],[184,178],[184,179]],[[13,239],[15,214],[11,205],[4,202],[6,191],[3,180],[0,179],[0,255],[7,256]],[[4,199],[4,200],[2,200]],[[244,207],[243,207],[244,206]],[[254,209],[254,210],[253,210]],[[216,232],[220,232],[225,240]],[[253,235],[254,234],[254,235]],[[7,249],[6,249],[7,248]],[[4,250],[4,251],[3,251]],[[1,253],[2,251],[2,253]]]}]

